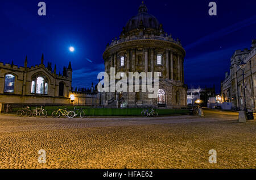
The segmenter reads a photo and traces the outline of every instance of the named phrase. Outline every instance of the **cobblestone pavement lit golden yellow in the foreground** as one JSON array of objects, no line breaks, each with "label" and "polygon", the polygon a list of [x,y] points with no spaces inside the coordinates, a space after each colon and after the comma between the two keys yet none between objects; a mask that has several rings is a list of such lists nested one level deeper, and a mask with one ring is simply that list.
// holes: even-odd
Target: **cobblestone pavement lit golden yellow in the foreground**
[{"label": "cobblestone pavement lit golden yellow in the foreground", "polygon": [[[18,118],[0,115],[0,168],[256,168],[256,122],[205,117]],[[46,163],[38,151],[46,151]],[[208,161],[209,150],[217,163]]]}]

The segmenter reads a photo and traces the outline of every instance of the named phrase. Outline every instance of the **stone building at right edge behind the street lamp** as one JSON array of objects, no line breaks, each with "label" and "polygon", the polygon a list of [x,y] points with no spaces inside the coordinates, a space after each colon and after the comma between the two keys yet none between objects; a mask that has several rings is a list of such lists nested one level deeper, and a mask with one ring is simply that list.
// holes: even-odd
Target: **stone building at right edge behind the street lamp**
[{"label": "stone building at right edge behind the street lamp", "polygon": [[245,95],[246,107],[255,111],[256,95],[256,40],[251,43],[250,49],[237,50],[230,60],[230,73],[225,74],[221,82],[221,96],[223,102],[232,102],[233,106],[244,107],[243,78],[240,62],[246,63],[245,67]]}]

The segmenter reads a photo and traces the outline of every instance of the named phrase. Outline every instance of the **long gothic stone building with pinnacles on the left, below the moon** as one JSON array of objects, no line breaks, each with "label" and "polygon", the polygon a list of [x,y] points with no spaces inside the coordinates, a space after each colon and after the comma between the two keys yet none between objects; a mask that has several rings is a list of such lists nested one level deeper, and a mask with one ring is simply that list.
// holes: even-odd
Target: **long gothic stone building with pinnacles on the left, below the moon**
[{"label": "long gothic stone building with pinnacles on the left, below the moon", "polygon": [[42,55],[41,64],[24,67],[0,62],[0,112],[2,104],[70,104],[72,68],[56,74],[56,65],[46,67]]}]

